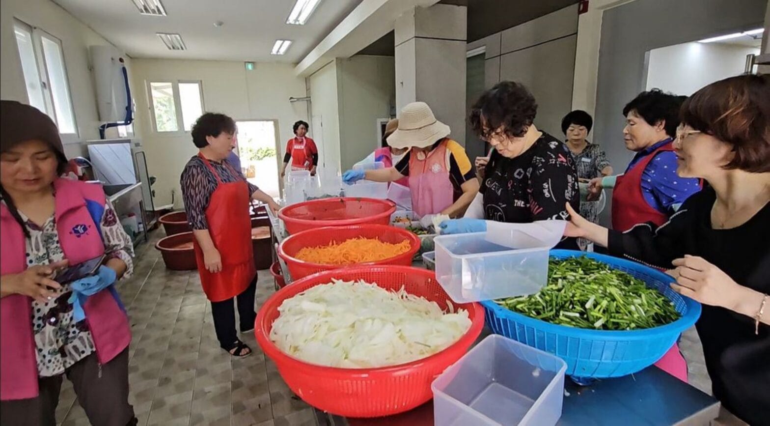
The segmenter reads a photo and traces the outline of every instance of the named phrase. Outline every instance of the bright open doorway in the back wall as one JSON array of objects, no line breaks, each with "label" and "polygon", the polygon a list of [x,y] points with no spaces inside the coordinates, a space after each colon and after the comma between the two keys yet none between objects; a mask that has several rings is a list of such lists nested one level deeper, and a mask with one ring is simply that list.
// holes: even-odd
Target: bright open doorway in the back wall
[{"label": "bright open doorway in the back wall", "polygon": [[267,195],[278,198],[278,120],[243,120],[236,125],[243,175]]}]

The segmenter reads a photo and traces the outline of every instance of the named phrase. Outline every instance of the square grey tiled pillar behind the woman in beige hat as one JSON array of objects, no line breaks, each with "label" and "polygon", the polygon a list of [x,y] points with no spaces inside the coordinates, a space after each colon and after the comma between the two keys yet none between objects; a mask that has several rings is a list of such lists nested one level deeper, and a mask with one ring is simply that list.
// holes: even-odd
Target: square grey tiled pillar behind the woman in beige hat
[{"label": "square grey tiled pillar behind the woman in beige hat", "polygon": [[467,8],[413,8],[396,21],[396,107],[426,102],[465,145]]}]

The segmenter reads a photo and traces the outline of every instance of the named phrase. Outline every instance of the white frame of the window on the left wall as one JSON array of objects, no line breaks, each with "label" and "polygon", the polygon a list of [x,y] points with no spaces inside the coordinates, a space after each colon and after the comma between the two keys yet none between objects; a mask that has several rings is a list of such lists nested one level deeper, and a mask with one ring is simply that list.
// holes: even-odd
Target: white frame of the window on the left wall
[{"label": "white frame of the window on the left wall", "polygon": [[[64,44],[62,42],[62,39],[59,39],[59,37],[56,37],[55,35],[52,35],[50,32],[45,31],[44,29],[40,29],[39,27],[36,27],[35,25],[29,25],[28,23],[22,21],[18,18],[13,18],[13,29],[14,29],[14,39],[15,39],[15,32],[16,29],[22,29],[23,31],[27,32],[30,36],[30,43],[32,44],[32,54],[35,55],[35,68],[38,71],[38,79],[39,84],[42,92],[43,97],[43,103],[45,104],[45,111],[43,111],[47,116],[51,117],[53,122],[55,122],[57,129],[59,129],[59,135],[62,136],[62,142],[64,143],[72,143],[77,142],[80,136],[80,131],[78,128],[78,119],[75,115],[75,104],[72,101],[72,88],[70,87],[69,82],[69,72],[67,71],[67,62],[64,56]],[[59,48],[59,55],[61,59],[62,64],[62,73],[64,76],[64,87],[66,99],[64,102],[67,102],[69,106],[69,112],[72,119],[72,128],[73,132],[61,132],[61,123],[59,122],[59,114],[56,113],[55,108],[55,102],[54,102],[54,94],[53,94],[53,88],[51,86],[51,75],[49,75],[49,59],[46,59],[45,57],[45,49],[43,48],[43,38],[47,39],[49,42],[53,42],[55,45]],[[18,39],[14,40],[16,43],[16,52],[18,53],[18,59],[19,63],[22,62],[22,52],[18,48]],[[29,91],[26,87],[27,82],[27,76],[24,73],[24,69],[22,68],[22,76],[25,79],[25,95],[27,96],[27,104],[31,105],[30,99],[29,99]]]}]

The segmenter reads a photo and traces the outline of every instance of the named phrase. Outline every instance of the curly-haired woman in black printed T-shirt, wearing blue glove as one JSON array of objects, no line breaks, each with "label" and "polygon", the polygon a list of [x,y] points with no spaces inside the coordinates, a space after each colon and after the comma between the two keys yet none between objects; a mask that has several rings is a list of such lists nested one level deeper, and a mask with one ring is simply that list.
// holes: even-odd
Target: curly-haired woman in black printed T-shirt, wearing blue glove
[{"label": "curly-haired woman in black printed T-shirt, wearing blue glove", "polygon": [[[470,110],[470,125],[494,148],[479,196],[463,219],[441,223],[442,233],[504,230],[505,223],[567,220],[579,207],[577,170],[561,140],[534,125],[537,103],[521,83],[500,82]],[[558,248],[577,250],[574,238]]]}]

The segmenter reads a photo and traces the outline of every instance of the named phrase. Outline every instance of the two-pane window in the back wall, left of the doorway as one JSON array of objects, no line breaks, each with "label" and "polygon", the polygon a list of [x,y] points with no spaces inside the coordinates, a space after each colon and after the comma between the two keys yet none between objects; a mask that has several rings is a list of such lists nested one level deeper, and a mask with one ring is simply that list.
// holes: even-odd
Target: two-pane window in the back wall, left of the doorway
[{"label": "two-pane window in the back wall, left of the doorway", "polygon": [[200,82],[150,82],[149,92],[156,132],[189,132],[203,115]]}]

